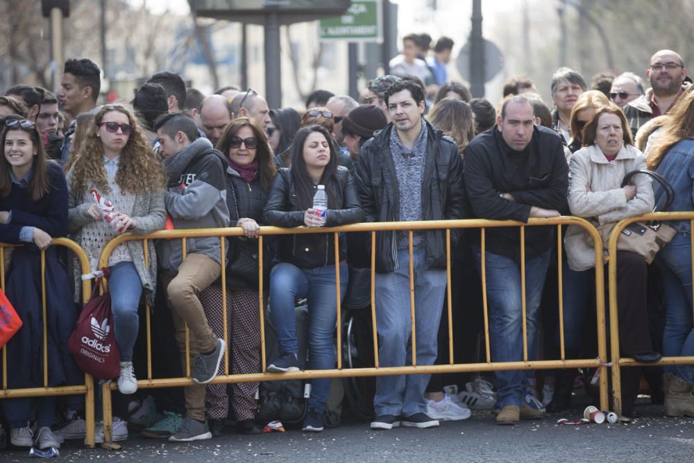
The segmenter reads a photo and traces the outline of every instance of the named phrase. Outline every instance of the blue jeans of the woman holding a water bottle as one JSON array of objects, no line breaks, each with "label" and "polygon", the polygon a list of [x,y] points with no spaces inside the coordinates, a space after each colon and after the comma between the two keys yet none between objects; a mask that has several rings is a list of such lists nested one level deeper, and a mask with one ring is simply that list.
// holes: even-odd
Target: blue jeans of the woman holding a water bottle
[{"label": "blue jeans of the woman holding a water bottle", "polygon": [[[347,265],[340,265],[340,298],[347,290]],[[308,300],[308,346],[312,370],[335,368],[335,326],[337,323],[337,298],[335,265],[316,269],[300,269],[296,265],[281,262],[270,273],[270,319],[283,353],[298,353],[294,303],[297,298]],[[311,380],[311,396],[308,407],[318,412],[325,410],[330,394],[330,378]]]}]

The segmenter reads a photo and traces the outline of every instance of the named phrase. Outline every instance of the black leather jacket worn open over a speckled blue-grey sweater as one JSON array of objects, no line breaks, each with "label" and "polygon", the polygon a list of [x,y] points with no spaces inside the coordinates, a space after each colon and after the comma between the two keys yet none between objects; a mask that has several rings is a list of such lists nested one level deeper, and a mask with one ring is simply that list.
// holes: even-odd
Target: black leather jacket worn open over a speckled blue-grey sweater
[{"label": "black leather jacket worn open over a speckled blue-grey sweater", "polygon": [[[463,161],[452,138],[427,124],[427,156],[418,192],[401,192],[390,150],[393,124],[388,124],[362,146],[357,160],[359,200],[369,222],[400,220],[400,201],[409,199],[422,203],[423,220],[464,219],[468,215],[463,185]],[[451,249],[459,237],[451,230]],[[424,230],[425,269],[446,268],[446,230]],[[376,233],[376,271],[387,273],[398,267],[396,231]]]}]

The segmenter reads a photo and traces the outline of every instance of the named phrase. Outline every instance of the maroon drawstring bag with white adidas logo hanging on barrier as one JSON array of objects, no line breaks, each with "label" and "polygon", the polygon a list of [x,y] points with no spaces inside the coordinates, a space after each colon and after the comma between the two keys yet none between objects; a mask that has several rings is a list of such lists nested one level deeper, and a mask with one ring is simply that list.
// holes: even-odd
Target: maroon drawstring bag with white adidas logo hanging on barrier
[{"label": "maroon drawstring bag with white adidas logo hanging on barrier", "polygon": [[[110,380],[120,374],[121,356],[113,333],[111,296],[103,278],[92,289],[92,297],[82,308],[67,349],[78,367],[94,378]],[[101,296],[96,292],[101,286]]]}]

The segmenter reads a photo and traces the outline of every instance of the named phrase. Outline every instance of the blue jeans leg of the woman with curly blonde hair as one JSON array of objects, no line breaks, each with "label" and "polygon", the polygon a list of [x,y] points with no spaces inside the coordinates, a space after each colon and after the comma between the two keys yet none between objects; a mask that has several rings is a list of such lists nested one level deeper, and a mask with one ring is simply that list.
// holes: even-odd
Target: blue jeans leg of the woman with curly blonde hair
[{"label": "blue jeans leg of the woman with curly blonde hair", "polygon": [[139,329],[137,307],[142,296],[142,281],[133,262],[120,262],[110,268],[108,292],[111,294],[111,312],[121,362],[133,361],[133,348]]}]

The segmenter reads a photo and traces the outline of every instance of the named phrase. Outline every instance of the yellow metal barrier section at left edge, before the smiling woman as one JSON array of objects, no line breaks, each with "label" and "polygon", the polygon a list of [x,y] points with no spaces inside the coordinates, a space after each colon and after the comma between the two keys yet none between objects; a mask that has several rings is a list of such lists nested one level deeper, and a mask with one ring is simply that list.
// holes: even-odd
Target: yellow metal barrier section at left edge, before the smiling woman
[{"label": "yellow metal barrier section at left edge, before the smiling woman", "polygon": [[[89,258],[85,251],[74,241],[67,238],[54,238],[51,242],[52,246],[63,246],[72,251],[80,265],[82,273],[90,272]],[[6,250],[17,246],[13,244],[0,243],[0,287],[5,291],[5,257]],[[48,385],[48,329],[46,326],[46,260],[45,252],[41,251],[41,303],[42,303],[42,320],[43,320],[43,387],[27,387],[22,389],[8,389],[7,387],[7,349],[2,349],[2,374],[3,384],[0,389],[0,399],[2,398],[23,398],[23,397],[43,397],[43,396],[69,396],[73,394],[83,394],[85,396],[85,422],[87,447],[94,447],[94,380],[92,376],[85,373],[85,382],[83,385],[49,387]],[[86,303],[91,296],[91,283],[89,280],[83,282],[82,285],[82,301]]]}]

